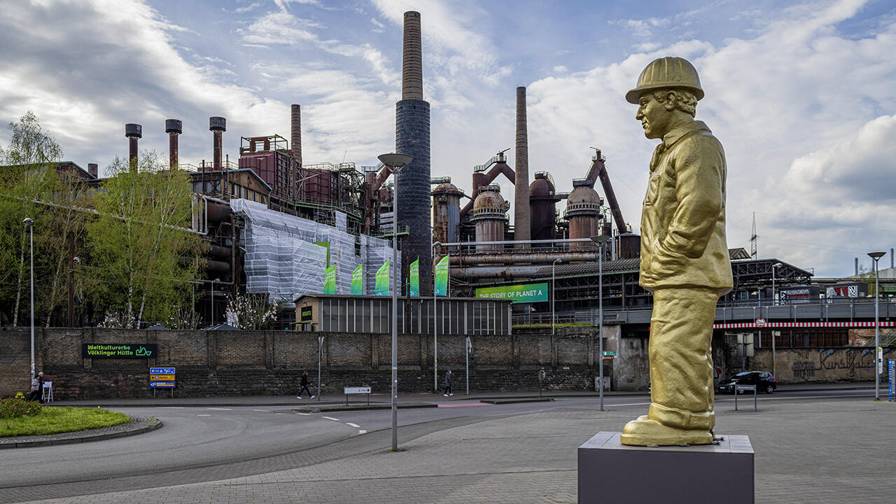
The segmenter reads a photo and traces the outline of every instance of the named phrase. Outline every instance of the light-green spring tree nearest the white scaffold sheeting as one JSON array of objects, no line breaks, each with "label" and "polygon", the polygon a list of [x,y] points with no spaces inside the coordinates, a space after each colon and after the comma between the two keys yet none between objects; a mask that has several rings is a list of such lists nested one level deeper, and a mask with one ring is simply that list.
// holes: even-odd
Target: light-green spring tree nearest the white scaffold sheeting
[{"label": "light-green spring tree nearest the white scaffold sheeting", "polygon": [[95,296],[110,325],[136,327],[165,320],[183,306],[200,267],[202,237],[188,228],[192,189],[187,174],[164,166],[156,152],[142,152],[137,169],[125,159],[95,196],[97,219],[87,225]]}]

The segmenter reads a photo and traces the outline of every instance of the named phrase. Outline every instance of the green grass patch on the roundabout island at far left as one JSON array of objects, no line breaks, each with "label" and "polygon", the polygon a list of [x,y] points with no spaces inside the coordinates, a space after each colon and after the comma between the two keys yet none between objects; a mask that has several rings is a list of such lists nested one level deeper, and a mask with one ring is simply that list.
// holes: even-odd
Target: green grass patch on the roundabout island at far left
[{"label": "green grass patch on the roundabout island at far left", "polygon": [[40,413],[16,418],[0,419],[0,438],[10,436],[39,436],[72,432],[74,430],[99,429],[130,421],[125,413],[67,406],[44,406]]}]

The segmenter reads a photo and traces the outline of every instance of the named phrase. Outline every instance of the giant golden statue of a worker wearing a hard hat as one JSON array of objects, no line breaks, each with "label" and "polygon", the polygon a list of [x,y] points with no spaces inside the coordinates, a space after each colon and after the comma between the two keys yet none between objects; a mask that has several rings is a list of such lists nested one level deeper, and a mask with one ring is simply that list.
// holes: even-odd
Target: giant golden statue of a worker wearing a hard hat
[{"label": "giant golden statue of a worker wearing a hard hat", "polygon": [[625,100],[648,138],[659,138],[641,216],[641,285],[653,293],[650,409],[625,424],[625,445],[706,445],[714,438],[712,321],[731,290],[725,240],[725,152],[702,121],[694,65],[647,65]]}]

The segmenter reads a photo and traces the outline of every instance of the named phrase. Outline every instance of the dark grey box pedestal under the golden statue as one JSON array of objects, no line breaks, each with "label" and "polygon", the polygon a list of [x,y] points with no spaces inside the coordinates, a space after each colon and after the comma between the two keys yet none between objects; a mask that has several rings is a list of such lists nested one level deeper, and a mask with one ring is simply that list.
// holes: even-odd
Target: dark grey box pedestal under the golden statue
[{"label": "dark grey box pedestal under the golden statue", "polygon": [[646,448],[599,432],[579,447],[579,504],[753,504],[750,439],[722,437],[718,445]]}]

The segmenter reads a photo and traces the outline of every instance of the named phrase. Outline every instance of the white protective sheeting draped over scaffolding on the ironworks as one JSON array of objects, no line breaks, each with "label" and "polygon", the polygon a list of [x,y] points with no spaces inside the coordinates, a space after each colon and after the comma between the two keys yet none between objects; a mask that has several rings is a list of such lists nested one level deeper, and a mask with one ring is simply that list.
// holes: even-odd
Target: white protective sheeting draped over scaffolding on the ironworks
[{"label": "white protective sheeting draped over scaffolding on the ironworks", "polygon": [[[351,293],[351,274],[365,265],[365,294],[374,293],[376,270],[392,257],[389,241],[360,236],[361,255],[355,253],[356,237],[319,222],[268,209],[245,199],[230,200],[231,209],[246,221],[246,291],[268,292],[274,300],[293,301],[303,294],[323,293],[323,270],[329,242],[330,264],[336,266],[336,293]],[[401,252],[399,252],[401,265]]]}]

